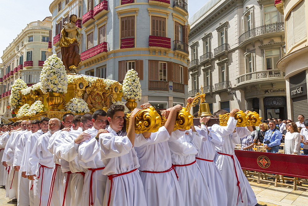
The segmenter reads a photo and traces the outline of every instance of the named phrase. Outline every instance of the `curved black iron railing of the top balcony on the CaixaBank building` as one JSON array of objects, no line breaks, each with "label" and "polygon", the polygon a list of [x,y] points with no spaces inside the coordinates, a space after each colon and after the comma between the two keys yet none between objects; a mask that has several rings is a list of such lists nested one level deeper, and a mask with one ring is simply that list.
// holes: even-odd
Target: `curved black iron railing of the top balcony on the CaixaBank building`
[{"label": "curved black iron railing of the top balcony on the CaixaBank building", "polygon": [[246,41],[247,39],[250,39],[255,36],[259,36],[262,34],[268,34],[272,32],[278,32],[278,31],[284,31],[285,30],[285,23],[273,23],[273,24],[267,24],[261,27],[256,27],[254,29],[251,29],[249,31],[246,31],[244,34],[242,34],[238,38],[238,43],[241,43],[243,41]]}]

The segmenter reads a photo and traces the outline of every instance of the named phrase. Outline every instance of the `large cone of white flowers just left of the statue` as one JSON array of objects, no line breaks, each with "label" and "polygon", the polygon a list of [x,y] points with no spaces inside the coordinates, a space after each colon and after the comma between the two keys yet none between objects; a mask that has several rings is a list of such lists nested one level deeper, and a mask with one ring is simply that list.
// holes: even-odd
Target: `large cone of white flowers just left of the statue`
[{"label": "large cone of white flowers just left of the statue", "polygon": [[40,82],[44,94],[67,93],[67,74],[63,62],[56,54],[49,56],[44,62]]}]

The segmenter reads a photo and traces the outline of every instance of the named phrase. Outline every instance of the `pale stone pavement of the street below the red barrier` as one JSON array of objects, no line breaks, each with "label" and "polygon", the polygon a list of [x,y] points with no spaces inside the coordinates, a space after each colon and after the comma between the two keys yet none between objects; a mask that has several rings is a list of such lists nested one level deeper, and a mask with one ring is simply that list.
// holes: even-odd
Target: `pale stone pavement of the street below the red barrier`
[{"label": "pale stone pavement of the street below the red barrier", "polygon": [[[249,183],[257,197],[259,204],[267,206],[300,206],[308,205],[308,190],[299,188],[293,190],[292,185],[275,187],[273,183],[261,182],[249,179]],[[308,186],[308,185],[306,185]],[[0,205],[14,206],[17,205],[5,197],[4,187],[0,187]]]}]

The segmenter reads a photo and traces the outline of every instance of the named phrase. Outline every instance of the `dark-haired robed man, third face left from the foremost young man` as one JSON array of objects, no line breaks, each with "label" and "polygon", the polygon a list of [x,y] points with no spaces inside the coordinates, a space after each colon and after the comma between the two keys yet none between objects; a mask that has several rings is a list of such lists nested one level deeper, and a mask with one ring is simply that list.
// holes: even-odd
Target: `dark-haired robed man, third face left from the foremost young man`
[{"label": "dark-haired robed man, third face left from the foremost young man", "polygon": [[[77,130],[72,130],[69,133],[67,133],[63,141],[63,144],[58,147],[59,158],[68,161],[70,171],[72,172],[72,178],[71,178],[72,206],[79,206],[81,204],[81,197],[83,195],[82,190],[84,183],[84,175],[85,172],[87,171],[87,169],[81,167],[79,164],[79,158],[78,158],[79,143],[90,138],[90,135],[87,133],[83,133],[83,131],[92,127],[93,127],[92,114],[89,113],[83,114],[80,118],[80,127]],[[74,142],[76,140],[77,143]]]}]

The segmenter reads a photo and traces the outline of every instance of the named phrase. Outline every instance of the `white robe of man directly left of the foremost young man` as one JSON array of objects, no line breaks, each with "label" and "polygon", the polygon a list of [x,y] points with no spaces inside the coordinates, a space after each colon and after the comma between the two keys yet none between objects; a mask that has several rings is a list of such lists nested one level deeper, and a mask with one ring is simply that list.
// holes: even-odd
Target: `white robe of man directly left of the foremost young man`
[{"label": "white robe of man directly left of the foremost young man", "polygon": [[[92,127],[88,130],[85,130],[84,132],[90,134],[91,138],[89,140],[81,142],[78,147],[80,160],[79,164],[81,167],[87,169],[84,176],[81,202],[83,203],[83,205],[89,205],[89,203],[93,203],[94,206],[100,206],[103,205],[107,176],[102,175],[102,171],[104,169],[96,171],[89,170],[105,167],[104,163],[100,160],[100,153],[98,152],[98,150],[95,151],[97,141],[94,137],[96,136],[98,130]],[[90,187],[91,175],[92,188]],[[91,190],[92,195],[90,194]]]}]

